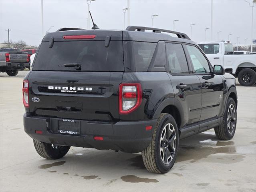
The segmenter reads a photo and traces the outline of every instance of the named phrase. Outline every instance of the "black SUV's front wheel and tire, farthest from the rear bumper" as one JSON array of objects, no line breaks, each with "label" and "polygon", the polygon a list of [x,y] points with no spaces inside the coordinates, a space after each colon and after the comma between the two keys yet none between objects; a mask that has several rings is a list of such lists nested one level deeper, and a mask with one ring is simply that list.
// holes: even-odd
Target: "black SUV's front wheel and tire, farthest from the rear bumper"
[{"label": "black SUV's front wheel and tire, farthest from the rear bumper", "polygon": [[218,139],[230,140],[234,137],[237,122],[236,114],[236,102],[234,99],[228,98],[223,121],[218,127],[214,128],[215,135]]}]

